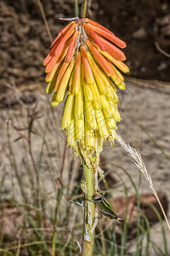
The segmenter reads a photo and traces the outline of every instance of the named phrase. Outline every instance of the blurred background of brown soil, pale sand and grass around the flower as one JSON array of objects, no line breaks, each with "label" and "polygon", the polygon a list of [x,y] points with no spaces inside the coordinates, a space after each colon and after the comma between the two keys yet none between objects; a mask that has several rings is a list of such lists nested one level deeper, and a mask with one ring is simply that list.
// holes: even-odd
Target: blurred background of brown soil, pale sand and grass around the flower
[{"label": "blurred background of brown soil, pale sand and grass around the flower", "polygon": [[[118,132],[142,153],[168,217],[170,3],[89,2],[88,17],[127,43]],[[55,38],[67,24],[59,18],[74,16],[74,1],[41,3]],[[82,242],[82,207],[70,202],[82,200],[81,163],[60,131],[65,102],[52,108],[44,93],[50,44],[37,0],[1,0],[0,255],[77,255]],[[108,143],[100,164],[107,182],[101,189],[127,221],[99,220],[94,255],[170,255],[160,207],[129,156]]]}]

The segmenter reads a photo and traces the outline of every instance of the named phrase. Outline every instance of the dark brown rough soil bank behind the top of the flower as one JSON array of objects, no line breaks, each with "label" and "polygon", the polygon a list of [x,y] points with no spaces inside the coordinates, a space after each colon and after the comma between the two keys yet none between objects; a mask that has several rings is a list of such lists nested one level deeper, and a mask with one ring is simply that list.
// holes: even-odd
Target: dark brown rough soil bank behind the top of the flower
[{"label": "dark brown rough soil bank behind the top of the flower", "polygon": [[[74,16],[74,1],[42,0],[55,38],[66,22],[59,17]],[[92,1],[88,17],[111,29],[127,43],[125,53],[130,76],[169,81],[170,3],[167,0]],[[50,41],[37,0],[2,0],[0,3],[1,91],[7,85],[44,81],[42,60]]]}]

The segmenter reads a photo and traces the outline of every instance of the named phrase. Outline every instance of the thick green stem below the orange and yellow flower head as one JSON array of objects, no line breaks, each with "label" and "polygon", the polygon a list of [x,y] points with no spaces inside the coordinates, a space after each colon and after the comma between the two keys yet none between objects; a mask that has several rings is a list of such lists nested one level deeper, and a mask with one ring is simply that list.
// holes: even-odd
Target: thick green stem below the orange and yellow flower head
[{"label": "thick green stem below the orange and yellow flower head", "polygon": [[[86,182],[86,193],[88,199],[92,200],[94,197],[94,170],[89,169],[83,162],[83,176]],[[92,256],[94,252],[94,231],[89,233],[93,227],[93,218],[95,217],[95,204],[91,201],[85,201],[84,206],[84,227],[83,227],[83,244],[82,256]]]}]

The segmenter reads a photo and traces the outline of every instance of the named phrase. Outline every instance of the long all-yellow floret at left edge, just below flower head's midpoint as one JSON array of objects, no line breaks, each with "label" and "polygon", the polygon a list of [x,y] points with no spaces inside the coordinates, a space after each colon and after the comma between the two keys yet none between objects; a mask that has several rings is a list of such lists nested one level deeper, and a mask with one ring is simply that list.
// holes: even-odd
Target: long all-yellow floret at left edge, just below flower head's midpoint
[{"label": "long all-yellow floret at left edge, just below flower head's midpoint", "polygon": [[61,129],[67,130],[68,127],[71,125],[71,118],[72,118],[72,110],[74,106],[74,98],[75,96],[71,93],[67,96],[67,100],[65,102],[65,110],[62,119],[62,127]]}]

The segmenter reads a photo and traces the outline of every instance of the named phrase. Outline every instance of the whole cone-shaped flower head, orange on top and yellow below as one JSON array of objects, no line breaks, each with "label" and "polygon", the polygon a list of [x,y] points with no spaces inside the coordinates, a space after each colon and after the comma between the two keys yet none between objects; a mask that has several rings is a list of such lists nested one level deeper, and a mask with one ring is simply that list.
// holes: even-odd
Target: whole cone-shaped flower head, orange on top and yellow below
[{"label": "whole cone-shaped flower head, orange on top and yellow below", "polygon": [[[113,144],[117,109],[116,86],[125,90],[123,73],[129,72],[122,62],[120,48],[126,44],[93,20],[75,19],[65,26],[43,61],[46,66],[46,93],[52,93],[52,106],[62,102],[67,91],[62,129],[67,145],[88,166],[102,151],[107,138]],[[119,70],[118,70],[118,69]]]}]

